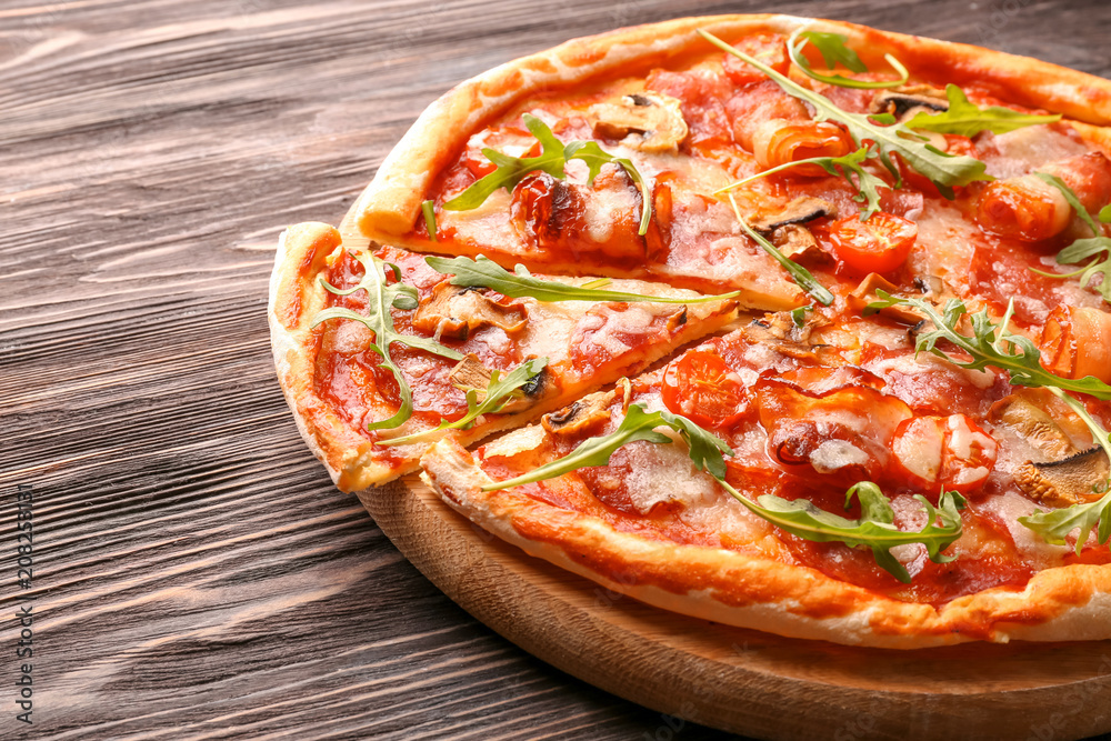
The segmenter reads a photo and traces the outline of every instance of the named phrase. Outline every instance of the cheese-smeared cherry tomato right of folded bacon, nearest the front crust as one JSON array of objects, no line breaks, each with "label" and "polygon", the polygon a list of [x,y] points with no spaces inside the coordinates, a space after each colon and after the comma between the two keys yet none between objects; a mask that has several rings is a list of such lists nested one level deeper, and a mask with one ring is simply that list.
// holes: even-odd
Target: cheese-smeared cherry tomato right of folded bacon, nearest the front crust
[{"label": "cheese-smeared cherry tomato right of folded bacon, nearest the front crust", "polygon": [[929,493],[940,488],[975,491],[995,464],[998,445],[964,414],[915,417],[903,421],[891,440],[892,474]]}]

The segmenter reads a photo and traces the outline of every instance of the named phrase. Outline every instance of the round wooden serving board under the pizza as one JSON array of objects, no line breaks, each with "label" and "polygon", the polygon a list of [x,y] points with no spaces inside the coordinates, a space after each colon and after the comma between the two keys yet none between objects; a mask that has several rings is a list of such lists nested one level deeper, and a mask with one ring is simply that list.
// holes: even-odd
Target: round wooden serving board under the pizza
[{"label": "round wooden serving board under the pizza", "polygon": [[[343,243],[366,247],[353,208]],[[764,739],[1080,739],[1111,731],[1111,641],[860,649],[688,618],[532,558],[416,475],[359,499],[477,619],[548,663],[667,715]],[[679,728],[670,719],[659,738]],[[667,732],[664,732],[667,731]]]}]

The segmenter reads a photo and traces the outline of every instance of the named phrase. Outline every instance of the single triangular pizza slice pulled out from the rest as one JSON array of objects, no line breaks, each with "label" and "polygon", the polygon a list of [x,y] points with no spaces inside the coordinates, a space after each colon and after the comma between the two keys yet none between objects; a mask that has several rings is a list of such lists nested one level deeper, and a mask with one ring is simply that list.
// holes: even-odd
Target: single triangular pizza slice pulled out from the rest
[{"label": "single triangular pizza slice pulled out from the rest", "polygon": [[283,234],[270,296],[282,389],[344,491],[414,470],[441,437],[469,444],[562,407],[737,313],[733,296],[346,249],[323,223]]}]

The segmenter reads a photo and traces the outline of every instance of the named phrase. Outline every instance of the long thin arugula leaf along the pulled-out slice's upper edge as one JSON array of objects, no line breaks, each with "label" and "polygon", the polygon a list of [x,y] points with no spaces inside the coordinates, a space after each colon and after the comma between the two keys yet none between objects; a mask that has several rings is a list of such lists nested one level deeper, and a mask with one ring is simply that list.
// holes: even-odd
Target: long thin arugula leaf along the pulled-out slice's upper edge
[{"label": "long thin arugula leaf along the pulled-out slice's upper edge", "polygon": [[480,254],[476,259],[459,258],[424,258],[433,270],[446,276],[454,276],[449,282],[452,286],[468,288],[489,288],[511,299],[530,297],[537,301],[553,303],[557,301],[649,301],[652,303],[707,303],[723,301],[741,294],[740,291],[705,296],[698,299],[684,299],[665,296],[645,296],[642,293],[625,293],[624,291],[600,291],[587,286],[605,286],[608,278],[587,286],[568,286],[554,280],[533,278],[529,269],[517,266],[516,272],[509,272],[493,260]]}]

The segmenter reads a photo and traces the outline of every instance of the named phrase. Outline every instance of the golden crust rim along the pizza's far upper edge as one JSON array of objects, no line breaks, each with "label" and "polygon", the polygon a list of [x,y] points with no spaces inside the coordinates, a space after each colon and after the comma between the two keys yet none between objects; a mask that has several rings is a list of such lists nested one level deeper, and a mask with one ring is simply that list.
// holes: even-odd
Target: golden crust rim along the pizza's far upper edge
[{"label": "golden crust rim along the pizza's far upper edge", "polygon": [[792,16],[684,18],[574,39],[460,83],[428,107],[382,162],[360,197],[359,228],[384,241],[407,233],[433,179],[454,161],[468,138],[530,96],[718,53],[695,29],[735,42],[752,33],[790,33],[803,24],[848,36],[870,64],[881,66],[883,54],[892,53],[930,81],[975,82],[1021,106],[1093,124],[1111,123],[1111,81],[1037,59],[841,21]]}]

